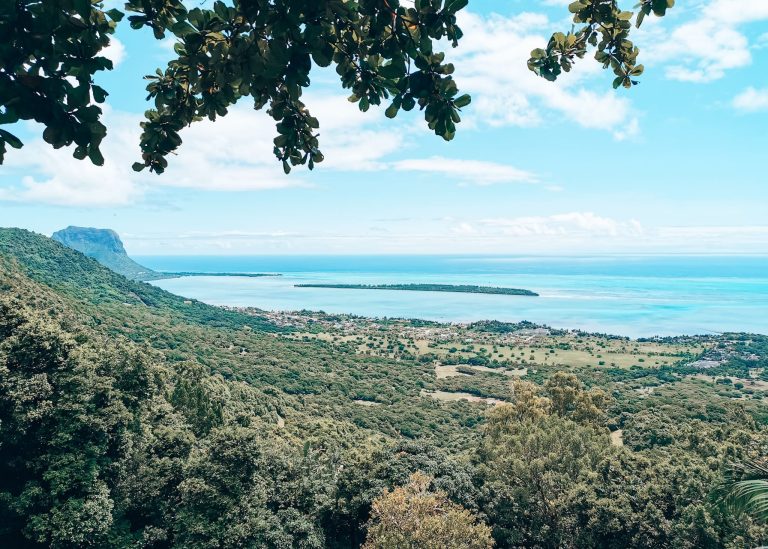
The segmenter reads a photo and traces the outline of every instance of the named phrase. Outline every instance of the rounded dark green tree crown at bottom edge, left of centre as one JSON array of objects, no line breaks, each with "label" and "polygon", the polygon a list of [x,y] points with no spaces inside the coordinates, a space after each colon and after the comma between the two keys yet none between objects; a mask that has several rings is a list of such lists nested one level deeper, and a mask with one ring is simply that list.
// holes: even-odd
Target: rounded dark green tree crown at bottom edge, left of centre
[{"label": "rounded dark green tree crown at bottom edge, left of centre", "polygon": [[333,470],[258,429],[217,430],[191,456],[174,521],[182,547],[322,547]]}]

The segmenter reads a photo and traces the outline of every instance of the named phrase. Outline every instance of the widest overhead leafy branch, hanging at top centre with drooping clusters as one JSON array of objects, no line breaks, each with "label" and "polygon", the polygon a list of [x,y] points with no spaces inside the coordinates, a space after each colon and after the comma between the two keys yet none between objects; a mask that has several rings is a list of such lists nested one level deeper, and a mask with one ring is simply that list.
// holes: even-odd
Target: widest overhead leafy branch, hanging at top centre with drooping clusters
[{"label": "widest overhead leafy branch, hanging at top centre with drooping clusters", "polygon": [[387,115],[394,117],[418,104],[430,129],[452,139],[469,97],[458,96],[453,66],[433,51],[433,41],[458,43],[456,12],[467,2],[239,0],[187,11],[178,0],[132,0],[128,10],[142,14],[128,18],[132,27],[178,39],[177,58],[148,77],[155,109],[142,123],[143,158],[134,168],[162,172],[181,144],[179,130],[224,116],[245,96],[277,122],[274,152],[285,171],[297,164],[312,168],[323,159],[319,123],[301,95],[313,62],[336,67],[360,110],[391,100]]}]

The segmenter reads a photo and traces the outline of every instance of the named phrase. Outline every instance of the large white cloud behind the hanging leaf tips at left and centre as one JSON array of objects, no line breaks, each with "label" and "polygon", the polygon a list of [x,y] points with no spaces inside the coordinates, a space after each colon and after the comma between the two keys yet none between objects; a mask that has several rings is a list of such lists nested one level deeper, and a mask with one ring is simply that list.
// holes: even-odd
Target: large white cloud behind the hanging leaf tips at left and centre
[{"label": "large white cloud behind the hanging leaf tips at left and centre", "polygon": [[[380,125],[382,113],[361,113],[340,96],[311,96],[307,103],[320,120],[321,148],[327,159],[317,170],[379,169],[385,156],[404,145],[407,131],[392,121]],[[136,202],[163,187],[258,191],[309,185],[306,167],[295,168],[289,176],[283,173],[272,154],[274,121],[245,100],[216,122],[205,120],[183,130],[184,143],[177,155],[169,157],[161,176],[131,169],[140,158],[141,119],[105,109],[109,131],[102,144],[103,167],[75,160],[71,148],[54,150],[39,138],[12,151],[4,166],[0,200],[115,206]],[[12,176],[18,185],[6,183]]]}]

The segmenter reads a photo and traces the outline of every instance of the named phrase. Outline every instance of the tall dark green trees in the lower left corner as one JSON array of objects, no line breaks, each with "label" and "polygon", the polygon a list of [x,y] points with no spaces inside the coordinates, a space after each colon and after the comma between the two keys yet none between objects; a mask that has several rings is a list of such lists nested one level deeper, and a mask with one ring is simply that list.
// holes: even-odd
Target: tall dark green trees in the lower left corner
[{"label": "tall dark green trees in the lower left corner", "polygon": [[113,466],[154,390],[146,359],[103,341],[78,345],[18,302],[0,304],[0,325],[3,534],[103,545],[115,529]]}]

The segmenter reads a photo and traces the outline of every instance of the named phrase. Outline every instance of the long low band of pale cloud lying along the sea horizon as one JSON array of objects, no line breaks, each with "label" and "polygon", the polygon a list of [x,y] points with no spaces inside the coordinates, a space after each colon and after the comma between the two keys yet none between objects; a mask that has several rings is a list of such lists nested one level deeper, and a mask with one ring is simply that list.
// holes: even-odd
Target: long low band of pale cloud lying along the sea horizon
[{"label": "long low band of pale cloud lying along the sea horizon", "polygon": [[[768,246],[768,226],[645,226],[593,212],[339,231],[233,230],[124,234],[134,253],[750,253]],[[446,238],[446,234],[450,238]]]}]

